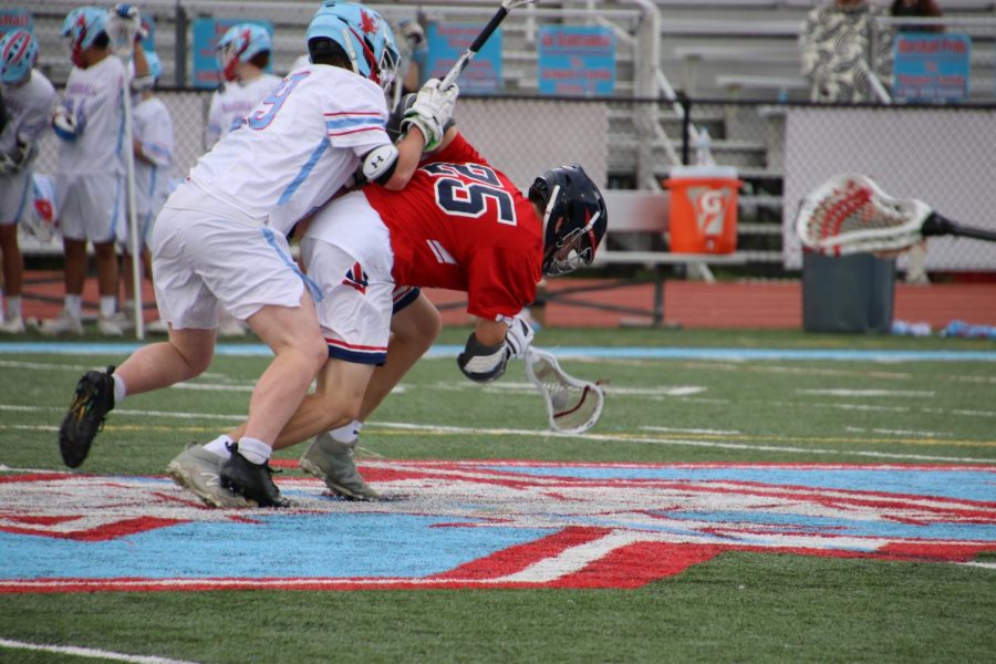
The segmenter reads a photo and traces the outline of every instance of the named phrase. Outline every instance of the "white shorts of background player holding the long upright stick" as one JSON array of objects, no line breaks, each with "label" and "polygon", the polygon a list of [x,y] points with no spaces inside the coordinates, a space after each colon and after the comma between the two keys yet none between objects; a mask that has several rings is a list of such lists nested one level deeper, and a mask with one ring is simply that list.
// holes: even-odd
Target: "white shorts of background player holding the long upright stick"
[{"label": "white shorts of background player holding the long upright stick", "polygon": [[62,237],[111,242],[124,237],[125,178],[113,173],[59,174],[55,209]]}]

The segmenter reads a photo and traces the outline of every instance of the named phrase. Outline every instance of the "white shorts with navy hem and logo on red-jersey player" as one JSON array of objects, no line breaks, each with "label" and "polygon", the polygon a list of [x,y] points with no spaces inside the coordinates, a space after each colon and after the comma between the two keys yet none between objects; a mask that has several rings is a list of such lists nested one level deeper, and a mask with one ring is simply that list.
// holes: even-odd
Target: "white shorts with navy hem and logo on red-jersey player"
[{"label": "white shorts with navy hem and logo on red-jersey player", "polygon": [[301,240],[301,257],[309,266],[308,276],[322,289],[322,301],[315,308],[329,356],[357,364],[383,364],[387,359],[395,292],[390,247],[385,247],[384,260],[361,264],[339,247],[305,237]]}]

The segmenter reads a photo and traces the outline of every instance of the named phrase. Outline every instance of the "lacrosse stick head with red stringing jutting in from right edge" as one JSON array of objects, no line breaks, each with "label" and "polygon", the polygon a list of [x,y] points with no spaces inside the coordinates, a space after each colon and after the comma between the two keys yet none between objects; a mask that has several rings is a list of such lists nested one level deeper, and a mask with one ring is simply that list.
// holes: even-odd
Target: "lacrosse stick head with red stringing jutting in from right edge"
[{"label": "lacrosse stick head with red stringing jutting in from right edge", "polygon": [[827,256],[904,250],[930,236],[996,241],[996,231],[955,224],[922,200],[893,198],[864,175],[838,175],[810,193],[796,232]]}]

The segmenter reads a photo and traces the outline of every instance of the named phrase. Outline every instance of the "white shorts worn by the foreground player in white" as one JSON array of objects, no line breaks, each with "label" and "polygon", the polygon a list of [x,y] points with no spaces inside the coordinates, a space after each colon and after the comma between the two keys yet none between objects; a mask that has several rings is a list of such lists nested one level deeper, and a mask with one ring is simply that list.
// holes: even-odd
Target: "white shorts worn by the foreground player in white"
[{"label": "white shorts worn by the foreground player in white", "polygon": [[159,318],[174,328],[217,328],[222,308],[246,320],[263,307],[299,307],[305,282],[312,298],[321,298],[282,234],[232,216],[167,203],[156,218],[156,302]]}]

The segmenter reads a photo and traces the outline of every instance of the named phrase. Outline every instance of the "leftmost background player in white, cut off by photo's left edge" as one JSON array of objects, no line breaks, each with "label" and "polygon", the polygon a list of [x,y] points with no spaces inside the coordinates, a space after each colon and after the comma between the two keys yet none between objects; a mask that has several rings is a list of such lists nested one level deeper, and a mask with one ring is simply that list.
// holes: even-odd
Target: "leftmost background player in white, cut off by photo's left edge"
[{"label": "leftmost background player in white, cut off by photo's left edge", "polygon": [[0,256],[7,294],[6,317],[0,311],[0,332],[9,334],[24,331],[18,224],[27,222],[33,214],[31,162],[56,101],[55,89],[33,69],[35,60],[38,42],[27,30],[13,30],[0,40],[0,85],[7,114],[0,132]]}]

